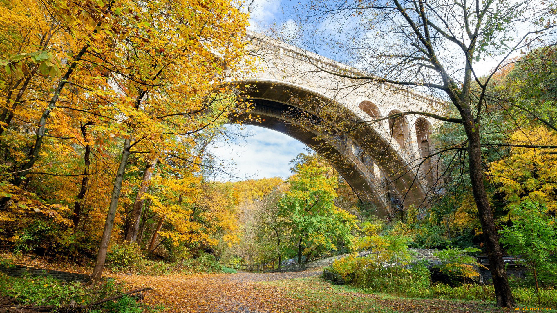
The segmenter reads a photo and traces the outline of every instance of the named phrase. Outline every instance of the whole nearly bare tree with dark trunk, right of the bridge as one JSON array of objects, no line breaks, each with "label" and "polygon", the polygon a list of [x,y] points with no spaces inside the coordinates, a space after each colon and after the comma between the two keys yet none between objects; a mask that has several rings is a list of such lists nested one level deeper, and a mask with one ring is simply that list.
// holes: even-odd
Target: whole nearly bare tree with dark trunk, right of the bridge
[{"label": "whole nearly bare tree with dark trunk, right of the bridge", "polygon": [[[482,145],[501,143],[483,141],[486,121],[482,113],[488,86],[507,58],[522,48],[543,45],[544,38],[552,32],[553,4],[539,5],[529,0],[312,1],[310,6],[300,5],[297,9],[306,31],[325,22],[338,35],[323,40],[304,40],[308,36],[300,36],[300,45],[314,51],[327,45],[333,50],[329,55],[361,69],[354,73],[333,71],[319,61],[311,61],[316,71],[353,79],[354,84],[371,88],[389,84],[401,89],[429,90],[447,99],[455,109],[455,114],[448,116],[405,111],[371,123],[422,115],[455,123],[463,129],[465,142],[446,149],[467,154],[468,175],[486,239],[497,305],[514,306],[482,166]],[[486,66],[481,62],[483,59],[496,60],[494,69],[485,76],[481,71]]]}]

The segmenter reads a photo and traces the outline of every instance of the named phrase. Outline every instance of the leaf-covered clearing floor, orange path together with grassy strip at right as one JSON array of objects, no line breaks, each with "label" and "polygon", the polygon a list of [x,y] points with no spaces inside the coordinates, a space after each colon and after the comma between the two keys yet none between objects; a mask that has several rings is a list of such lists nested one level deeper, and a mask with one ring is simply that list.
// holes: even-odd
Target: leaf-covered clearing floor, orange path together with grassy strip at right
[{"label": "leaf-covered clearing floor, orange path together with grassy strip at right", "polygon": [[[113,275],[130,287],[154,287],[145,292],[149,304],[165,312],[504,312],[489,303],[439,299],[405,299],[355,292],[322,280],[321,271],[212,275]],[[298,279],[292,279],[298,278]]]}]

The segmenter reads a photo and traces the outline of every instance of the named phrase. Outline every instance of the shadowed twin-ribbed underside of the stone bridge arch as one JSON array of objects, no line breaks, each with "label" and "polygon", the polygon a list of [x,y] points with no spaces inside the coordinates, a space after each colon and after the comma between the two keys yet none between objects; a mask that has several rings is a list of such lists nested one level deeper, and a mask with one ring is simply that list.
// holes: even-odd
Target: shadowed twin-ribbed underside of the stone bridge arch
[{"label": "shadowed twin-ribbed underside of the stone bridge arch", "polygon": [[[234,118],[238,123],[279,131],[314,149],[338,170],[363,203],[373,204],[375,213],[380,217],[393,216],[393,200],[396,202],[396,199],[401,200],[405,207],[427,206],[427,193],[415,174],[389,142],[371,126],[360,124],[356,130],[343,135],[323,134],[312,127],[312,123],[304,122],[296,116],[302,114],[307,121],[307,115],[311,115],[315,123],[319,123],[320,116],[302,106],[303,99],[312,101],[311,99],[321,97],[320,95],[276,82],[258,81],[244,84],[246,98],[250,99],[254,106],[249,114],[257,115],[259,118],[251,120],[241,115]],[[328,99],[325,101],[333,103]],[[348,111],[343,106],[337,109]],[[351,112],[345,113],[354,115]],[[353,116],[353,119],[354,123],[359,120],[357,116]],[[357,146],[357,149],[354,146]],[[373,164],[380,168],[382,178],[373,176],[374,169],[361,161],[364,159],[361,158],[362,155],[372,159]]]}]

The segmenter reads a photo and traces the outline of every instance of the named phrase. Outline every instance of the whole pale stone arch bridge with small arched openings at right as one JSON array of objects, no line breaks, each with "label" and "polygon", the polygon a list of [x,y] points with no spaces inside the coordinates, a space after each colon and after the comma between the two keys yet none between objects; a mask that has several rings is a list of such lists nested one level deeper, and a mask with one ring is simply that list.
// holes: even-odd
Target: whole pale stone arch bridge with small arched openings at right
[{"label": "whole pale stone arch bridge with small arched openings at right", "polygon": [[434,154],[429,137],[436,120],[385,118],[404,111],[439,114],[438,101],[389,84],[328,74],[358,70],[284,42],[255,33],[248,40],[253,51],[248,58],[257,71],[240,74],[234,84],[254,105],[250,116],[260,119],[243,124],[280,131],[310,146],[380,217],[392,218],[411,206],[419,215],[442,192],[437,158],[425,158]]}]

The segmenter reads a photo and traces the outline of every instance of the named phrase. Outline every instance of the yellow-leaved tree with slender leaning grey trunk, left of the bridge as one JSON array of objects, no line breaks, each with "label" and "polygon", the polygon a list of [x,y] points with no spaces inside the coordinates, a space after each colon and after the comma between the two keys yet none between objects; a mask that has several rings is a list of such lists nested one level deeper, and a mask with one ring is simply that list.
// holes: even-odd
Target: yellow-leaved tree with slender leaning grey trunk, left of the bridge
[{"label": "yellow-leaved tree with slender leaning grey trunk, left of the bridge", "polygon": [[[178,149],[185,155],[167,151],[177,150],[179,144],[188,146],[184,141],[227,118],[236,103],[232,91],[227,91],[224,85],[229,73],[225,69],[234,72],[245,45],[242,33],[246,14],[240,12],[236,3],[206,7],[195,1],[180,5],[163,1],[157,6],[141,6],[139,12],[141,16],[135,19],[140,23],[133,25],[141,36],[121,47],[129,60],[121,65],[111,63],[109,67],[115,73],[132,72],[122,79],[115,76],[127,98],[123,102],[127,119],[95,280],[99,280],[104,265],[129,155],[152,155],[153,163],[155,155],[162,153],[199,164],[190,159],[187,149]],[[139,150],[130,150],[133,146]],[[130,224],[137,224],[139,214],[133,217]]]}]

